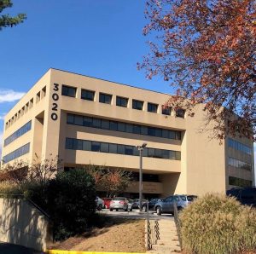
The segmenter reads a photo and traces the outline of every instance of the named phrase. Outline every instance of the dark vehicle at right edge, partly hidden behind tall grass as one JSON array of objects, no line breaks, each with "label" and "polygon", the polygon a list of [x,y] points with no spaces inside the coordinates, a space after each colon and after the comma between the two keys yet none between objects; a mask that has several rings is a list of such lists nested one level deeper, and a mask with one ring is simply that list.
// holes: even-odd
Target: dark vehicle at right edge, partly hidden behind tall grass
[{"label": "dark vehicle at right edge, partly hidden behind tall grass", "polygon": [[256,207],[256,187],[231,188],[227,195],[235,197],[242,205]]}]

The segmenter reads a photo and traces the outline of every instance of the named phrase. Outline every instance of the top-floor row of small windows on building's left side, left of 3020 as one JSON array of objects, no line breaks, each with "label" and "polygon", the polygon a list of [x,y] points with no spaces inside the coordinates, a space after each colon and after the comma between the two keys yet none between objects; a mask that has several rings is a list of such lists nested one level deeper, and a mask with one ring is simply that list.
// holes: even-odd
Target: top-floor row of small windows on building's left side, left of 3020
[{"label": "top-floor row of small windows on building's left side, left of 3020", "polygon": [[[35,97],[36,103],[38,103],[38,101],[41,101],[45,97],[45,95],[46,95],[46,86],[44,86],[44,88],[37,93]],[[14,124],[18,119],[20,119],[20,117],[22,117],[25,113],[27,113],[28,110],[33,107],[33,105],[34,105],[34,98],[32,98],[30,101],[27,101],[26,104],[23,107],[21,107],[20,110],[17,113],[15,113],[15,115],[5,123],[5,129],[8,129],[9,126]]]}]

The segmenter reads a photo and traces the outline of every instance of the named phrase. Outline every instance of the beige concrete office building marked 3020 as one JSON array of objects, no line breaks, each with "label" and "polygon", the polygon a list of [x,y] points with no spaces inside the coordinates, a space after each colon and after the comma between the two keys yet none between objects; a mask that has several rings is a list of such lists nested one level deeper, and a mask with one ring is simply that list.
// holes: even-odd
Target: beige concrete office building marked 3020
[{"label": "beige concrete office building marked 3020", "polygon": [[[161,106],[170,95],[49,69],[5,117],[3,164],[59,155],[65,169],[106,165],[138,181],[143,150],[143,195],[224,192],[253,185],[253,142],[219,145],[201,133],[202,107],[190,118]],[[126,195],[137,197],[138,183]]]}]

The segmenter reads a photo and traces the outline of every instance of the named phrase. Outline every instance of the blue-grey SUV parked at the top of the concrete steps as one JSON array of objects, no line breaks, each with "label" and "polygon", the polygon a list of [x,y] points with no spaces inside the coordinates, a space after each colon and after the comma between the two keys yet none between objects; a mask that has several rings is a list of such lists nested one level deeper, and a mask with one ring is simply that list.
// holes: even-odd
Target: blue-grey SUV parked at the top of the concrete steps
[{"label": "blue-grey SUV parked at the top of the concrete steps", "polygon": [[157,202],[154,205],[154,211],[157,215],[161,215],[162,213],[174,214],[174,203],[177,204],[177,210],[180,211],[196,198],[195,195],[172,195]]}]

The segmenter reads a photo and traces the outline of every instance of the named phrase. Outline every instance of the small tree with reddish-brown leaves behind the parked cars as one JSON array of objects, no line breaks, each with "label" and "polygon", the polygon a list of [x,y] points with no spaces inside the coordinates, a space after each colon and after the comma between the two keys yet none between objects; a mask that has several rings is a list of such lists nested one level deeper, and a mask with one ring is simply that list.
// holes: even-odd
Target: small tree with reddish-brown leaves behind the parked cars
[{"label": "small tree with reddish-brown leaves behind the parked cars", "polygon": [[131,172],[125,170],[96,165],[86,165],[85,170],[94,178],[96,189],[106,191],[110,197],[124,193],[132,183]]}]

